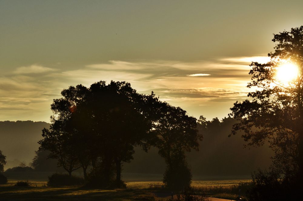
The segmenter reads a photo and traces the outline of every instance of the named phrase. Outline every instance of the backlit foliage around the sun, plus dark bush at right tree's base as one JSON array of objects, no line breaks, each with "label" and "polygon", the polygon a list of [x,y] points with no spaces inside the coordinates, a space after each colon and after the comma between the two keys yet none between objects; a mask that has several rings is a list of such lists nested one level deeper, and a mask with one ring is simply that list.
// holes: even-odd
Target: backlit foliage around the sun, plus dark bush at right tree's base
[{"label": "backlit foliage around the sun, plus dark bush at right tree's base", "polygon": [[[252,100],[234,103],[231,116],[240,122],[232,133],[245,132],[242,137],[247,145],[260,146],[266,141],[275,151],[270,172],[255,174],[255,188],[250,200],[292,200],[301,197],[303,179],[303,26],[275,34],[275,51],[266,64],[251,63],[252,75],[248,93]],[[295,63],[299,68],[296,78],[288,83],[276,76],[284,62]],[[284,178],[280,179],[280,174]],[[288,188],[292,186],[293,188]],[[286,195],[292,195],[288,198]]]}]

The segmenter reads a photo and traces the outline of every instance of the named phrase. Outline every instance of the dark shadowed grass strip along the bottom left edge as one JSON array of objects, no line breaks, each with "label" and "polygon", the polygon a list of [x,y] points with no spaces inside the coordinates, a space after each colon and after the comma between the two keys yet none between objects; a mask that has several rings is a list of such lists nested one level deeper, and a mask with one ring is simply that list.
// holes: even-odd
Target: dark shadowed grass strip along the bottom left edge
[{"label": "dark shadowed grass strip along the bottom left edge", "polygon": [[0,187],[0,200],[146,200],[154,201],[156,196],[142,189],[90,190],[82,188],[53,187]]}]

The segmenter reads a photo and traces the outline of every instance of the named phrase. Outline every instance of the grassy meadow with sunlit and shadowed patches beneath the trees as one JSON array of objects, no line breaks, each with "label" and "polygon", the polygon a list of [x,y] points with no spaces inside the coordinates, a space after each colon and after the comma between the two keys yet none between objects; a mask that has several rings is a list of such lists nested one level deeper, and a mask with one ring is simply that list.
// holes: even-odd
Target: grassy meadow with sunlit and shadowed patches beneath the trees
[{"label": "grassy meadow with sunlit and shadowed patches beneath the trees", "polygon": [[[30,187],[15,187],[18,179],[8,179],[0,185],[0,200],[168,200],[171,192],[159,181],[128,181],[126,189],[100,190],[73,187],[48,187],[47,180],[28,180]],[[239,183],[250,180],[193,180],[192,187],[199,195],[236,200]],[[244,192],[245,189],[241,189]],[[176,193],[174,193],[175,195]],[[245,197],[243,197],[245,200]]]}]

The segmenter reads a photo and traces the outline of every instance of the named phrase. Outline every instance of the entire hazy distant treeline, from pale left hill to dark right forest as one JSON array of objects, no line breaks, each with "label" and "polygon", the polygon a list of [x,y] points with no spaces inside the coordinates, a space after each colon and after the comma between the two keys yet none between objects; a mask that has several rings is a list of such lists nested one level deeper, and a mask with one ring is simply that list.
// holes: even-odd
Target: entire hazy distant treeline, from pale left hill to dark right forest
[{"label": "entire hazy distant treeline, from pale left hill to dark right forest", "polygon": [[[265,169],[271,164],[273,152],[266,144],[262,147],[243,148],[245,142],[241,135],[228,137],[235,122],[232,118],[220,121],[214,118],[206,122],[206,127],[199,126],[198,129],[203,134],[200,151],[187,154],[194,176],[250,175],[258,167]],[[41,130],[49,125],[46,122],[1,121],[0,147],[8,161],[5,169],[18,166],[21,161],[26,161],[29,165],[35,157],[32,166],[36,171],[65,171],[57,167],[57,160],[47,159],[48,151],[35,154],[39,147],[37,141],[42,139]],[[123,172],[127,173],[163,174],[164,171],[165,162],[154,147],[148,153],[141,147],[136,147],[134,160],[123,166]]]}]

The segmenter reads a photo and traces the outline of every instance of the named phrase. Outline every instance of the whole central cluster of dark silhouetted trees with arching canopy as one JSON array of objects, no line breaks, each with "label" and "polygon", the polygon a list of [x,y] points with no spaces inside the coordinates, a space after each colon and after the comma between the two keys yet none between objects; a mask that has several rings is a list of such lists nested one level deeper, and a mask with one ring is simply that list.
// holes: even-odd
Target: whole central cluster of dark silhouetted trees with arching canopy
[{"label": "whole central cluster of dark silhouetted trees with arching canopy", "polygon": [[185,151],[198,150],[201,135],[185,110],[159,101],[153,92],[138,94],[127,82],[71,86],[61,94],[51,105],[52,125],[39,144],[70,176],[82,167],[93,185],[121,187],[122,165],[133,159],[134,147],[155,146],[168,164],[165,175],[181,178],[182,173],[190,183]]}]

